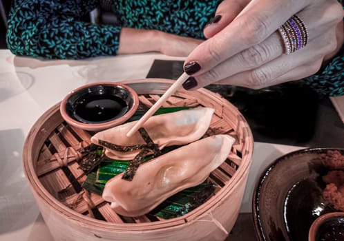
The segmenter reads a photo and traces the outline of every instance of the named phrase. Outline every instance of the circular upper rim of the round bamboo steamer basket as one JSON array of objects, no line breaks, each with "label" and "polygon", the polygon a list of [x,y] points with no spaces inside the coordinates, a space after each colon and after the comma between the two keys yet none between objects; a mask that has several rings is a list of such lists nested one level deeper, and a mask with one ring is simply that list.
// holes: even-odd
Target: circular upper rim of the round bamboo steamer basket
[{"label": "circular upper rim of the round bamboo steamer basket", "polygon": [[[146,81],[146,80],[144,80]],[[137,81],[124,81],[123,83],[130,84],[133,83],[133,85],[138,84]],[[150,79],[149,83],[162,83],[163,85],[171,85],[173,81],[171,80],[164,80],[164,79]],[[146,84],[146,83],[145,83]],[[146,86],[146,85],[145,85]],[[153,87],[153,85],[152,85]],[[213,99],[216,103],[226,102],[222,96],[218,94],[214,94],[213,92],[210,92],[209,90],[200,89],[198,90],[200,93],[209,94],[210,96],[207,96],[207,98]],[[30,130],[30,133],[28,134],[28,137],[26,138],[26,142],[24,143],[24,149],[23,149],[23,167],[26,170],[26,176],[28,177],[28,180],[30,180],[30,186],[32,186],[32,189],[35,189],[37,191],[37,195],[44,200],[46,205],[49,205],[52,207],[52,209],[55,209],[59,215],[66,216],[70,220],[73,220],[75,222],[78,222],[81,225],[86,225],[92,228],[95,228],[97,230],[104,231],[122,231],[125,232],[128,230],[128,227],[130,227],[131,231],[153,231],[157,229],[175,229],[180,227],[181,225],[189,225],[190,222],[193,222],[194,220],[199,220],[203,218],[204,216],[209,215],[213,209],[215,209],[218,205],[220,205],[220,202],[222,202],[222,198],[227,196],[229,193],[233,192],[235,187],[240,185],[240,180],[242,178],[245,178],[245,172],[249,168],[249,165],[251,163],[251,156],[252,156],[252,149],[253,149],[253,137],[251,134],[251,131],[249,129],[249,126],[247,122],[245,121],[245,118],[238,112],[238,109],[234,107],[233,105],[226,105],[226,109],[228,109],[231,112],[236,113],[236,118],[238,123],[242,125],[242,137],[245,139],[243,140],[243,152],[242,153],[242,161],[240,165],[238,166],[238,169],[236,169],[235,174],[231,177],[231,181],[224,185],[218,193],[216,193],[216,196],[213,196],[210,200],[208,200],[206,203],[198,207],[197,209],[194,209],[190,213],[187,213],[184,216],[178,217],[178,218],[171,218],[169,220],[159,220],[157,222],[143,222],[143,223],[117,223],[117,222],[106,222],[103,220],[97,220],[95,218],[90,218],[88,216],[84,216],[82,213],[78,213],[77,211],[74,211],[73,209],[70,209],[66,207],[65,205],[61,204],[59,200],[57,200],[54,196],[52,196],[51,193],[49,193],[46,188],[41,184],[35,170],[34,163],[29,161],[30,157],[28,156],[28,151],[32,149],[41,149],[41,146],[44,145],[44,140],[40,140],[39,148],[37,148],[37,143],[33,142],[33,137],[39,136],[41,132],[49,132],[50,130],[46,128],[45,123],[42,121],[46,118],[57,118],[61,119],[61,116],[56,116],[56,112],[58,112],[59,109],[59,103],[48,109],[48,111],[42,115],[39,120],[34,125],[34,128]],[[223,111],[223,110],[222,110]],[[62,120],[62,119],[61,119]],[[50,129],[55,129],[59,121],[56,121],[55,127],[49,127]],[[241,142],[241,140],[240,140]],[[36,144],[36,145],[35,145]],[[32,157],[33,160],[37,160],[39,156],[39,151],[35,151],[35,155]]]}]

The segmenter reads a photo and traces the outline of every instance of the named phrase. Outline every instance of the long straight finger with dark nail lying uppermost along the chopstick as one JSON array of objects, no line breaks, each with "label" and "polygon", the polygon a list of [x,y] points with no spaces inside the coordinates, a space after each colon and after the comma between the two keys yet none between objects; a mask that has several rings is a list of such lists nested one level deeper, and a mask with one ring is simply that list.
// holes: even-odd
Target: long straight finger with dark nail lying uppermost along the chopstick
[{"label": "long straight finger with dark nail lying uppermost along the chopstick", "polygon": [[195,61],[200,68],[198,72],[189,70],[186,72],[198,76],[234,54],[264,41],[298,9],[304,8],[309,1],[311,0],[252,0],[231,24],[213,38],[198,45],[189,54],[185,63]]}]

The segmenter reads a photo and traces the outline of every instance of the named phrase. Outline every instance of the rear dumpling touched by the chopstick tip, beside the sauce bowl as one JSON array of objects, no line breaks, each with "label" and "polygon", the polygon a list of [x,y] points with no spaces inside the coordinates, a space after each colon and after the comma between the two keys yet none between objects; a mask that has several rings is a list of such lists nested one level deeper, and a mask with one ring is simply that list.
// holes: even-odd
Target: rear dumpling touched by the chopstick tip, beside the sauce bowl
[{"label": "rear dumpling touched by the chopstick tip, beside the sauce bowl", "polygon": [[[202,107],[151,116],[143,127],[159,149],[171,145],[184,145],[200,139],[207,132],[213,112],[214,109],[212,108]],[[125,123],[98,132],[90,140],[96,145],[99,145],[98,140],[105,140],[108,143],[125,147],[146,144],[139,132],[130,138],[126,136],[136,122]],[[116,160],[131,160],[139,152],[140,150],[122,152],[106,149],[105,154]]]}]

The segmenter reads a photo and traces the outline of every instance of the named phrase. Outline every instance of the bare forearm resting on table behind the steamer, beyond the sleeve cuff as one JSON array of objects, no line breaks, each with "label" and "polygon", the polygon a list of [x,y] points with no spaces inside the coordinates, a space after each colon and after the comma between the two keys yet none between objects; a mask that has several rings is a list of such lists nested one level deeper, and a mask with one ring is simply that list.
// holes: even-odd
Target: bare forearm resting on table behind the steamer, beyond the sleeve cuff
[{"label": "bare forearm resting on table behind the steamer, beyond the sleeve cuff", "polygon": [[202,42],[158,30],[122,28],[118,54],[161,52],[170,56],[188,56]]}]

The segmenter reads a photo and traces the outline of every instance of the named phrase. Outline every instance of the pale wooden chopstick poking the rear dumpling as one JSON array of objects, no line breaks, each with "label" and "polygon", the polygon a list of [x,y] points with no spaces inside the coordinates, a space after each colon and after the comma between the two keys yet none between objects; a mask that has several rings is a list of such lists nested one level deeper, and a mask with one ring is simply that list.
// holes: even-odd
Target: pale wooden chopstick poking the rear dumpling
[{"label": "pale wooden chopstick poking the rear dumpling", "polygon": [[126,136],[130,137],[132,136],[135,132],[137,132],[142,125],[149,119],[149,117],[153,116],[153,114],[159,109],[162,104],[172,95],[174,94],[182,84],[187,81],[187,78],[189,78],[189,75],[185,72],[169,87],[168,90],[160,97],[160,99],[155,102],[155,104],[140,118],[137,123],[129,130],[129,132],[126,134]]}]

